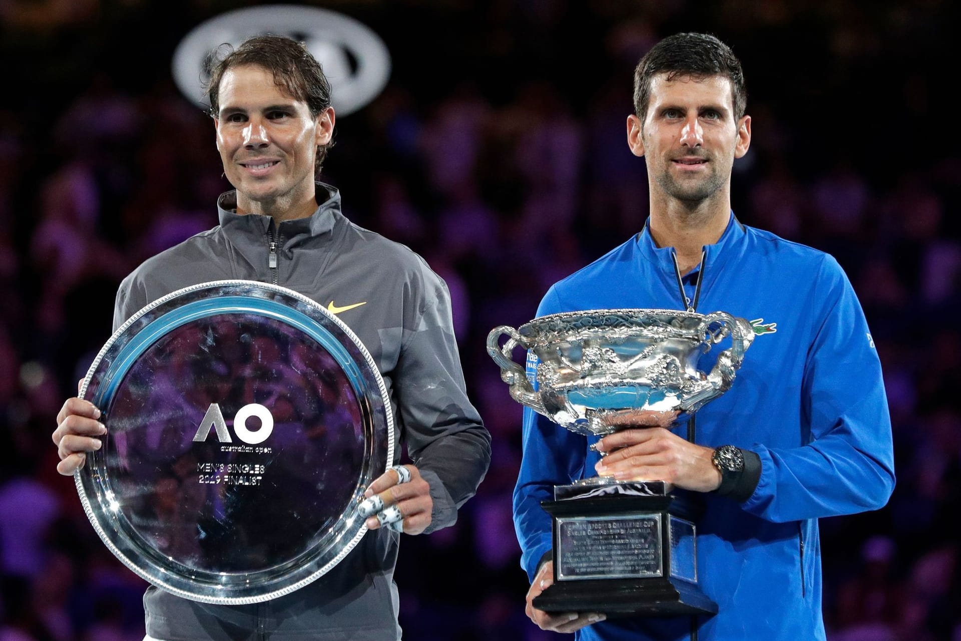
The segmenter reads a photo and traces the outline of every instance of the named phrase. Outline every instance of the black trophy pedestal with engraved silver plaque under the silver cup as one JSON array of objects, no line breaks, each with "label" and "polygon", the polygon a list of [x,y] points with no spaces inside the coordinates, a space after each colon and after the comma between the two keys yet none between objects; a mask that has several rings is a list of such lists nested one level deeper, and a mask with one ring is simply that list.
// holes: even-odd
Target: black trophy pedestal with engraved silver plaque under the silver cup
[{"label": "black trophy pedestal with engraved silver plaque under the silver cup", "polygon": [[698,587],[699,505],[663,481],[554,488],[554,584],[534,599],[545,612],[617,616],[716,614]]}]

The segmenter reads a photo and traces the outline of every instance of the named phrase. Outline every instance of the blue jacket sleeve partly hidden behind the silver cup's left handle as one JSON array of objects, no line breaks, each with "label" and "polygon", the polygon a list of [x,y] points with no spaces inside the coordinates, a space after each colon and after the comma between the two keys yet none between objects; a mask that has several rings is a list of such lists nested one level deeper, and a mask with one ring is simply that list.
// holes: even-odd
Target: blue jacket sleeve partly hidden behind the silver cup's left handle
[{"label": "blue jacket sleeve partly hidden behind the silver cup's left handle", "polygon": [[[554,288],[544,296],[537,316],[562,311]],[[528,357],[528,378],[536,387],[536,357]],[[521,544],[521,566],[533,580],[542,558],[551,551],[551,517],[541,501],[554,499],[554,485],[580,479],[587,439],[566,430],[532,409],[524,408],[524,454],[514,487],[514,530]]]}]

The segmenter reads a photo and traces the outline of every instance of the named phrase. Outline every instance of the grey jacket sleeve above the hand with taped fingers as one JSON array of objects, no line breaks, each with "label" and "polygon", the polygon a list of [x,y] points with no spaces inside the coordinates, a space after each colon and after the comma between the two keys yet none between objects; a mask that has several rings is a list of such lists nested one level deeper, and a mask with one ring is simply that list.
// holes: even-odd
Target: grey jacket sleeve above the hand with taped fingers
[{"label": "grey jacket sleeve above the hand with taped fingers", "polygon": [[457,507],[474,496],[490,464],[490,434],[467,398],[447,285],[425,271],[427,295],[405,332],[394,382],[407,453],[431,486],[431,532],[454,525]]}]

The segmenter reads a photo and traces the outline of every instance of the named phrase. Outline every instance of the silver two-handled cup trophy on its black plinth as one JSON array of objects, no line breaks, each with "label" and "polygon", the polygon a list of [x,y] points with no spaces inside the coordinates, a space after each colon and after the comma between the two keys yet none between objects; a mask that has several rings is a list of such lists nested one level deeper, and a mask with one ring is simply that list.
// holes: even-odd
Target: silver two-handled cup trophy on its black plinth
[{"label": "silver two-handled cup trophy on its black plinth", "polygon": [[[504,345],[501,337],[508,338]],[[730,336],[709,371],[702,355]],[[543,316],[487,336],[487,353],[518,403],[587,436],[672,428],[724,394],[751,346],[751,323],[724,311],[593,309]],[[527,371],[512,358],[536,357]],[[534,599],[547,612],[607,616],[713,614],[698,587],[693,493],[665,481],[594,477],[554,487],[554,584]]]}]

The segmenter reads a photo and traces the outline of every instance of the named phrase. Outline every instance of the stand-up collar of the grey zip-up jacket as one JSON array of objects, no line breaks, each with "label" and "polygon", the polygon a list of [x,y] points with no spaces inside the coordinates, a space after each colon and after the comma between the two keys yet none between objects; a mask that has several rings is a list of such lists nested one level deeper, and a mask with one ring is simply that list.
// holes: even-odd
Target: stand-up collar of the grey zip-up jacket
[{"label": "stand-up collar of the grey zip-up jacket", "polygon": [[289,251],[309,238],[330,236],[335,218],[340,214],[340,191],[332,185],[316,185],[314,198],[317,209],[305,218],[284,220],[280,225],[275,225],[270,216],[237,213],[236,190],[223,193],[217,198],[220,227],[231,242],[240,247],[246,246],[252,239],[263,244],[263,237],[276,233],[283,242],[283,251]]}]

